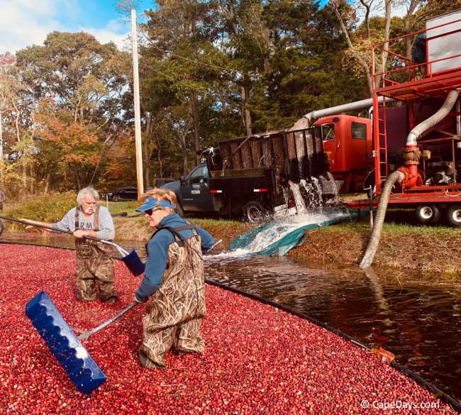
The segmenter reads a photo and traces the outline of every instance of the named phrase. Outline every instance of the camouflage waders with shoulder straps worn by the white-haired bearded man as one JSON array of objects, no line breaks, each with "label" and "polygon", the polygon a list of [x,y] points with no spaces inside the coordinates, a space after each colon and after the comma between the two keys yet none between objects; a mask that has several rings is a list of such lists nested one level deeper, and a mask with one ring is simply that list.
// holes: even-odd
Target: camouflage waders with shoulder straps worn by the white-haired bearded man
[{"label": "camouflage waders with shoulder straps worn by the white-haired bearded man", "polygon": [[[75,210],[75,230],[79,229],[79,211]],[[94,212],[93,231],[99,231],[99,206]],[[109,255],[111,247],[96,240],[75,238],[77,252],[77,299],[94,301],[96,281],[99,281],[101,301],[116,301],[113,291],[113,260]]]}]

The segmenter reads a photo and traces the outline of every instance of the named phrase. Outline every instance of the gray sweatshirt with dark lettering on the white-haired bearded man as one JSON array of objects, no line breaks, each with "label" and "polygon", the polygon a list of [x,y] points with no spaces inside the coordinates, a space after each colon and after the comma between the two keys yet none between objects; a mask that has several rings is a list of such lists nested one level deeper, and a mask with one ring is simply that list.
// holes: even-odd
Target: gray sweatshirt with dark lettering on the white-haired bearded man
[{"label": "gray sweatshirt with dark lettering on the white-haired bearded man", "polygon": [[[61,231],[75,231],[75,209],[72,208],[70,211],[65,214],[64,218],[61,221],[52,223],[52,228],[60,229]],[[82,211],[79,212],[79,228],[83,231],[89,230],[92,231],[94,228],[94,214],[91,215],[88,219],[85,219]],[[96,238],[111,240],[115,238],[115,228],[113,226],[112,216],[109,210],[104,206],[99,206],[99,229],[100,231],[96,232]]]}]

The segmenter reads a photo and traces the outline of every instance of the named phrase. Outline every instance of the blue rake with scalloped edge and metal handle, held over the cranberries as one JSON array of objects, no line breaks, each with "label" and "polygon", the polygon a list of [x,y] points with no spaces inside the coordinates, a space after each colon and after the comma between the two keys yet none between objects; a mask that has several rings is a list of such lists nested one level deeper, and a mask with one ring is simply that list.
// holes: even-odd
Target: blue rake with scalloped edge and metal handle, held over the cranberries
[{"label": "blue rake with scalloped edge and metal handle, held over the cranberries", "polygon": [[50,296],[44,291],[39,292],[28,302],[26,315],[77,389],[84,394],[90,394],[94,389],[106,382],[107,378],[85,350],[82,343],[80,343],[80,340],[88,338],[91,334],[116,321],[136,304],[133,302],[116,316],[104,321],[104,323],[99,324],[99,326],[90,331],[83,332],[78,337],[75,336],[72,328],[62,318]]}]

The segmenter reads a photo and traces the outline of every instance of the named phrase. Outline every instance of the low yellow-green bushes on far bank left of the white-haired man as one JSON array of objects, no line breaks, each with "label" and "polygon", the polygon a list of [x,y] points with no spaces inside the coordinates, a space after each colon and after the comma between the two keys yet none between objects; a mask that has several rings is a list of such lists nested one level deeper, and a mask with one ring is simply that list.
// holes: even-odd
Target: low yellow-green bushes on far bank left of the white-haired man
[{"label": "low yellow-green bushes on far bank left of the white-haired man", "polygon": [[42,194],[31,197],[30,201],[7,210],[5,214],[13,218],[57,222],[74,206],[77,206],[77,194],[74,192]]}]

